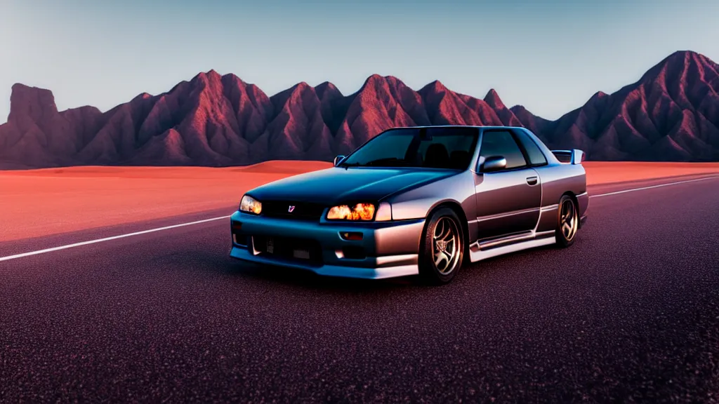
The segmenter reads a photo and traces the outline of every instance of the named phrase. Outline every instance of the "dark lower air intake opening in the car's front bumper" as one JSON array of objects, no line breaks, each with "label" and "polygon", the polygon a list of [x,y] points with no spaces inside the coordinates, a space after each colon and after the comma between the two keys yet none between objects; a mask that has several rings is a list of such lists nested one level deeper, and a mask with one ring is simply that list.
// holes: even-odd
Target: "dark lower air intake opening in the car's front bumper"
[{"label": "dark lower air intake opening in the car's front bumper", "polygon": [[321,265],[322,248],[316,240],[277,236],[252,236],[252,244],[264,257]]}]

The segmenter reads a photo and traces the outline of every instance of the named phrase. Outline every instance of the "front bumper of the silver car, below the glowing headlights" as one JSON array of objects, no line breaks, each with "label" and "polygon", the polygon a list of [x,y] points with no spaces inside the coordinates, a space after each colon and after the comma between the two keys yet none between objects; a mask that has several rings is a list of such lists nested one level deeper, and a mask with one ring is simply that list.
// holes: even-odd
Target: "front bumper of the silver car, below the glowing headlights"
[{"label": "front bumper of the silver car, below the glowing headlights", "polygon": [[[380,279],[418,274],[418,250],[424,219],[338,223],[255,216],[231,216],[232,250],[238,260],[309,270],[319,275]],[[362,239],[344,239],[346,232]],[[319,245],[317,260],[268,254],[256,245],[264,237],[303,239]],[[244,243],[244,244],[243,244]],[[349,257],[346,252],[362,252]]]}]

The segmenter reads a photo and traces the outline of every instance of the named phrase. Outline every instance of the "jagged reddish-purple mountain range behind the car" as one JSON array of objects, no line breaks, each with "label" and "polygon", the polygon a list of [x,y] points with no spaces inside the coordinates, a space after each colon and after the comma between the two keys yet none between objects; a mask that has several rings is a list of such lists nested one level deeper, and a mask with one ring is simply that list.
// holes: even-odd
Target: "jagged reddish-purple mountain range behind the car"
[{"label": "jagged reddish-purple mountain range behind the car", "polygon": [[527,127],[550,148],[582,149],[588,160],[719,161],[719,65],[690,51],[556,121],[508,108],[494,90],[479,99],[434,81],[414,91],[380,75],[349,96],[328,82],[267,96],[210,70],[106,112],[58,111],[51,91],[22,84],[10,101],[0,125],[4,169],[330,161],[390,127],[439,124]]}]

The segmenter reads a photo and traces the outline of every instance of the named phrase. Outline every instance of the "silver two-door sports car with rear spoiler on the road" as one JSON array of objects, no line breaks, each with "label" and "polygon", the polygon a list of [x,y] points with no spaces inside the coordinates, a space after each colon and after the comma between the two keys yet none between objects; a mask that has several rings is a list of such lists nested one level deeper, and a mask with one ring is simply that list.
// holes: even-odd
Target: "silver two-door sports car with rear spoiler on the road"
[{"label": "silver two-door sports car with rear spoiler on the road", "polygon": [[247,192],[230,255],[447,283],[467,261],[571,245],[589,206],[582,160],[519,127],[388,129],[334,167]]}]

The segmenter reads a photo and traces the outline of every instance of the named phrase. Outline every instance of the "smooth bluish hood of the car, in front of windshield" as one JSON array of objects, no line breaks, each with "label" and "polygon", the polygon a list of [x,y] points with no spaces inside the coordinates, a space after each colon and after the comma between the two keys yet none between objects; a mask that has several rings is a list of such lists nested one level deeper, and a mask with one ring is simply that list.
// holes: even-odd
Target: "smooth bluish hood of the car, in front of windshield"
[{"label": "smooth bluish hood of the car, in front of windshield", "polygon": [[457,173],[421,168],[331,167],[283,178],[250,190],[248,194],[258,201],[324,203],[327,206],[372,202]]}]

